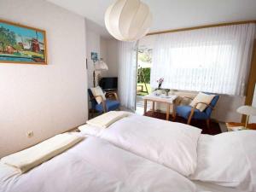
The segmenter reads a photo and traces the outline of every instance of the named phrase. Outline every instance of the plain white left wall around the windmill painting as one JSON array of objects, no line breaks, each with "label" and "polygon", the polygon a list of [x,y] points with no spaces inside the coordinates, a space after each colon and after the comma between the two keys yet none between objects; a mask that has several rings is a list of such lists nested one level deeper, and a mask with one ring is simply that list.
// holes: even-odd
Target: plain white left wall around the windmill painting
[{"label": "plain white left wall around the windmill painting", "polygon": [[[0,63],[0,157],[87,119],[84,18],[44,0],[1,0],[0,18],[44,29],[48,66]],[[34,136],[26,137],[28,131]]]}]

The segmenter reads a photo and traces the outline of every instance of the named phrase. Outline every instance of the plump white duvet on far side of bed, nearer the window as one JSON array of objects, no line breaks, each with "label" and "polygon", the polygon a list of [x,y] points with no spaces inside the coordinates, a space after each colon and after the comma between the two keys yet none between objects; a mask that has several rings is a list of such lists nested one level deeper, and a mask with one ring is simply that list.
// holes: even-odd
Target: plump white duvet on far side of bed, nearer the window
[{"label": "plump white duvet on far side of bed, nearer the window", "polygon": [[189,176],[197,164],[197,142],[201,130],[139,115],[131,115],[100,129],[84,125],[84,134],[101,137],[134,154],[153,160]]}]

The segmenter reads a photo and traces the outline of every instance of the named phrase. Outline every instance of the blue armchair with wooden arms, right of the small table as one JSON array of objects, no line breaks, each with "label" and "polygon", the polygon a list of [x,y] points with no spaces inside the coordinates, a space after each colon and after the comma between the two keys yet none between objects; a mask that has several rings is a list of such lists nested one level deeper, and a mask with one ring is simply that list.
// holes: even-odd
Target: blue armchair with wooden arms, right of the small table
[{"label": "blue armchair with wooden arms, right of the small table", "polygon": [[[211,95],[209,93],[205,93],[205,94]],[[193,100],[192,98],[189,98],[189,97],[183,97],[183,98],[188,98],[188,99]],[[209,129],[210,128],[210,119],[211,119],[212,110],[216,106],[216,104],[218,102],[218,98],[219,98],[219,96],[214,96],[213,99],[212,99],[212,102],[209,105],[207,103],[204,103],[204,102],[198,102],[198,103],[195,104],[194,107],[191,107],[191,106],[177,106],[176,107],[176,113],[177,113],[178,116],[181,116],[184,119],[188,119],[187,124],[189,124],[189,125],[190,125],[191,119],[207,120],[207,128]],[[196,108],[196,106],[199,103],[203,103],[203,104],[207,105],[207,108],[203,112],[201,112],[200,110],[198,110]]]}]

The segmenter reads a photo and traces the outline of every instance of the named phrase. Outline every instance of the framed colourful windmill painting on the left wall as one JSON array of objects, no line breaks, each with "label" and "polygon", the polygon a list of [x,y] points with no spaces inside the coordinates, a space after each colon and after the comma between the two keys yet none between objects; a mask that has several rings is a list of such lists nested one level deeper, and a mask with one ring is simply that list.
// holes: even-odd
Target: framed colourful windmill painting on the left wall
[{"label": "framed colourful windmill painting on the left wall", "polygon": [[47,65],[45,31],[0,20],[0,63]]}]

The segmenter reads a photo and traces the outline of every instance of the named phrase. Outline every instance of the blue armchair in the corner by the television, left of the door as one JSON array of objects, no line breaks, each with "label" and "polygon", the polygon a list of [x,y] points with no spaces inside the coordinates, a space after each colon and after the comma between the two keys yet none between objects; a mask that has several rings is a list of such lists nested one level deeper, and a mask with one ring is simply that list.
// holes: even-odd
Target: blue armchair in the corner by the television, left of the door
[{"label": "blue armchair in the corner by the television, left of the door", "polygon": [[[94,112],[106,113],[108,111],[117,110],[120,107],[119,98],[115,92],[108,92],[106,94],[107,100],[104,101],[102,98],[102,102],[100,104],[96,102],[96,97],[102,97],[102,96],[93,96],[90,89],[88,89],[88,94],[90,96],[92,113]],[[114,100],[109,99],[109,97],[113,97]]]}]

